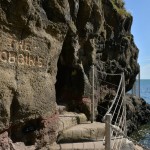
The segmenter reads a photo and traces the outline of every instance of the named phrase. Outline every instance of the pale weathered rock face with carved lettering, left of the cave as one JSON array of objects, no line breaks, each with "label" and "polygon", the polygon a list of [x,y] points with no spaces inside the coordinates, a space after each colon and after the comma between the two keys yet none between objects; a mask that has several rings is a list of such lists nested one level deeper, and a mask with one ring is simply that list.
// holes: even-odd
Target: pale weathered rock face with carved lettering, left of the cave
[{"label": "pale weathered rock face with carved lettering, left of the cave", "polygon": [[0,132],[26,145],[56,141],[57,61],[68,25],[48,19],[46,3],[0,1]]}]

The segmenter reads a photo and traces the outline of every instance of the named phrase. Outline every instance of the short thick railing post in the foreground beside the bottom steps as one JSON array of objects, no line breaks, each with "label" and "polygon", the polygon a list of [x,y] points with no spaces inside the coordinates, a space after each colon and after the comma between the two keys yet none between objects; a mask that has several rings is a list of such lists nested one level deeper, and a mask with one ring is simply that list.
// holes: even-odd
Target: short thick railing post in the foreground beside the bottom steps
[{"label": "short thick railing post in the foreground beside the bottom steps", "polygon": [[105,150],[111,150],[111,114],[106,114],[106,120],[105,120]]}]

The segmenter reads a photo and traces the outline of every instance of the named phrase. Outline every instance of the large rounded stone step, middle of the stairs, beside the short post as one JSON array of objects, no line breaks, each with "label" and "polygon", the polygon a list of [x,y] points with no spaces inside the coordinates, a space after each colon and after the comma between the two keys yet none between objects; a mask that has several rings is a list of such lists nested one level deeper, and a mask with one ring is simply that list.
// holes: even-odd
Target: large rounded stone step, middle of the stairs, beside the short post
[{"label": "large rounded stone step, middle of the stairs, beside the short post", "polygon": [[59,133],[58,143],[85,142],[103,139],[105,124],[100,122],[78,124]]}]

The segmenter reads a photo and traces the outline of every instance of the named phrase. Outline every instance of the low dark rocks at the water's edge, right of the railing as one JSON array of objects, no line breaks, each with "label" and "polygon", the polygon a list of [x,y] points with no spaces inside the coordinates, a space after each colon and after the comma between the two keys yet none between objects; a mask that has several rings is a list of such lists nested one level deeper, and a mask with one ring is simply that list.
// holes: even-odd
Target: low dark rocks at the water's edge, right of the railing
[{"label": "low dark rocks at the water's edge, right of the railing", "polygon": [[150,121],[150,105],[137,96],[126,95],[128,134]]}]

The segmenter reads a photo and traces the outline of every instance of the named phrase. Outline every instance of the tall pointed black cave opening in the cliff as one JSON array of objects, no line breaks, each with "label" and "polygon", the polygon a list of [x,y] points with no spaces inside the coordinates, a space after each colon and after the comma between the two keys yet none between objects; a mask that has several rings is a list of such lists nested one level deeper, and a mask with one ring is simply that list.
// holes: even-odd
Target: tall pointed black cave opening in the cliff
[{"label": "tall pointed black cave opening in the cliff", "polygon": [[[84,93],[84,73],[79,64],[77,37],[68,30],[57,62],[56,102],[70,105],[79,102]],[[71,104],[72,105],[72,104]]]}]

